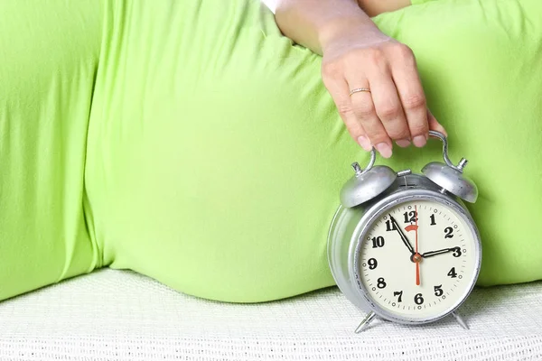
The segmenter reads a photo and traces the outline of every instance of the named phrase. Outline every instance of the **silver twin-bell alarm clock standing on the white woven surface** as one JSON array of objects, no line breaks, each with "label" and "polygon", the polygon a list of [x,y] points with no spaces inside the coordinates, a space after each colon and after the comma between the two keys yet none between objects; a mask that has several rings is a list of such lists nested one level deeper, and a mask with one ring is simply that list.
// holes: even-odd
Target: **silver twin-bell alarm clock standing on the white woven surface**
[{"label": "silver twin-bell alarm clock standing on the white woven surface", "polygon": [[474,286],[481,264],[478,229],[463,204],[478,190],[463,175],[467,161],[448,158],[425,165],[423,174],[352,164],[354,176],[341,190],[332,219],[328,260],[346,298],[368,312],[356,332],[378,317],[425,324],[456,312]]}]

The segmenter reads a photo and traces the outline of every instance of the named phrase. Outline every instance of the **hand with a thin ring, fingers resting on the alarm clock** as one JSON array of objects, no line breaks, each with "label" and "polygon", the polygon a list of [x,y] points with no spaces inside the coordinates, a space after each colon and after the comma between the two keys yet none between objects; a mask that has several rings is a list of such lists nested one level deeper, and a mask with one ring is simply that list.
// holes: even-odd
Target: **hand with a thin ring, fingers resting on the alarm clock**
[{"label": "hand with a thin ring, fingers resting on the alarm clock", "polygon": [[[332,23],[322,36],[322,79],[350,135],[388,158],[392,141],[425,145],[428,131],[446,134],[427,109],[413,52],[374,23]],[[352,89],[368,89],[350,95]]]}]

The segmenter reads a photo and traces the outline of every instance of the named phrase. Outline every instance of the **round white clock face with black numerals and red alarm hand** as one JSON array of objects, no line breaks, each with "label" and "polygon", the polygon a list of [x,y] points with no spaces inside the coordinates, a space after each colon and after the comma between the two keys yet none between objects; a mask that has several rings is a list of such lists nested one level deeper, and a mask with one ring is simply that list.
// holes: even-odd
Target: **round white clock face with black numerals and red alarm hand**
[{"label": "round white clock face with black numerals and red alarm hand", "polygon": [[395,317],[436,318],[472,288],[477,240],[464,218],[439,202],[414,200],[383,213],[360,248],[360,281]]}]

